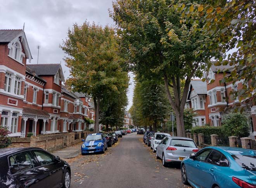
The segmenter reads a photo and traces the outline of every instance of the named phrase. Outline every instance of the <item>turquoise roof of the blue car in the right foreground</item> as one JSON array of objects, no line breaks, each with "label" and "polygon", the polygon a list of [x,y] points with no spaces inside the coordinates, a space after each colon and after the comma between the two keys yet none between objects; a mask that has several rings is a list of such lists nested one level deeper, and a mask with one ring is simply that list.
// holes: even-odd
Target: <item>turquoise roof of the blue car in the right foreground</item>
[{"label": "turquoise roof of the blue car in the right foreground", "polygon": [[228,153],[230,155],[256,155],[256,150],[245,149],[245,148],[236,148],[236,147],[216,147],[210,146],[206,148],[216,149],[223,153]]}]

